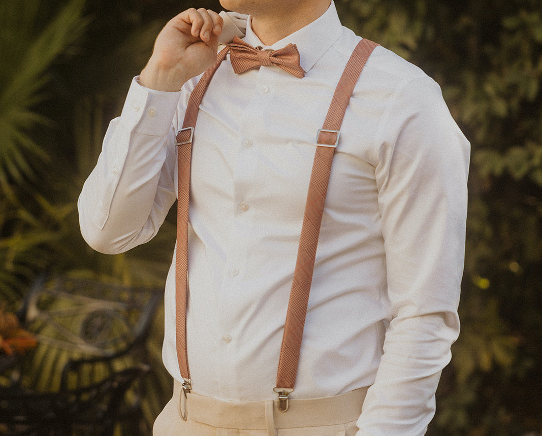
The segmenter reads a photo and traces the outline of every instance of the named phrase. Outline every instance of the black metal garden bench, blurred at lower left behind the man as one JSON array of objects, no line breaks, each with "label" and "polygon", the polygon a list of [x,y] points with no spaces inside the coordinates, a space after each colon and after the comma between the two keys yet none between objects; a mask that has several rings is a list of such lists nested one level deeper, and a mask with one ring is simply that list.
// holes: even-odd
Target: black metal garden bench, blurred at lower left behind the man
[{"label": "black metal garden bench, blurred at lower left behind the man", "polygon": [[38,281],[18,313],[38,346],[0,387],[0,435],[113,434],[143,395],[146,339],[162,298],[162,289]]}]

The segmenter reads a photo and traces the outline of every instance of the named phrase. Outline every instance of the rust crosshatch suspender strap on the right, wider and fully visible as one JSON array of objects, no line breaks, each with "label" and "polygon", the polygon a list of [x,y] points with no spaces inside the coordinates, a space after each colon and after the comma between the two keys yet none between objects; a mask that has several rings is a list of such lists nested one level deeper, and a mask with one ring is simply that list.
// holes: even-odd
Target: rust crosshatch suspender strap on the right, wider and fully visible
[{"label": "rust crosshatch suspender strap on the right, wider and fully visible", "polygon": [[291,392],[294,388],[298,370],[301,340],[314,270],[314,259],[316,257],[320,224],[322,214],[324,213],[327,185],[335,151],[334,145],[338,142],[338,132],[343,123],[346,107],[349,104],[353,89],[367,59],[377,45],[372,41],[364,39],[354,49],[339,80],[339,84],[335,89],[324,126],[318,134],[318,147],[314,155],[311,181],[308,188],[305,216],[299,240],[298,258],[288,302],[286,325],[282,337],[276,379],[276,392],[285,392],[286,398],[288,391]]}]

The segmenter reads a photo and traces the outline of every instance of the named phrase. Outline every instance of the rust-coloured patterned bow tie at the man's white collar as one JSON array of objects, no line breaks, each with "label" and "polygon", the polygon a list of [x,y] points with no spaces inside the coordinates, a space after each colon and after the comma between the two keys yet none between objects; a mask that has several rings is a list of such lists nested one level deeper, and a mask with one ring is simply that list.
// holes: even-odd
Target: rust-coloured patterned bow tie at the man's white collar
[{"label": "rust-coloured patterned bow tie at the man's white collar", "polygon": [[231,66],[237,74],[262,65],[276,65],[299,79],[305,76],[305,71],[299,64],[299,51],[295,44],[288,44],[279,50],[261,50],[234,36],[233,42],[228,45]]}]

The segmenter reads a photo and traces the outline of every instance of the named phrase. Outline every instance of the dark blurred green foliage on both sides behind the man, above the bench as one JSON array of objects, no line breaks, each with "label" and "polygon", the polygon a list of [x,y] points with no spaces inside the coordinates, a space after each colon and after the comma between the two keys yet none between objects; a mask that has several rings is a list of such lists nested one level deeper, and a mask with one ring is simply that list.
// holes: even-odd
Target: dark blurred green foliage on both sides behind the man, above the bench
[{"label": "dark blurred green foliage on both sides behind the man, above the bench", "polygon": [[[422,67],[472,142],[462,333],[430,435],[542,430],[540,0],[337,0],[341,19]],[[0,2],[0,298],[35,277],[163,284],[173,217],[118,256],[83,242],[76,199],[173,0]],[[216,1],[197,6],[219,9]],[[166,249],[164,249],[164,247]],[[150,348],[160,363],[162,314]],[[152,395],[152,393],[151,393]],[[146,419],[167,395],[154,395]]]}]

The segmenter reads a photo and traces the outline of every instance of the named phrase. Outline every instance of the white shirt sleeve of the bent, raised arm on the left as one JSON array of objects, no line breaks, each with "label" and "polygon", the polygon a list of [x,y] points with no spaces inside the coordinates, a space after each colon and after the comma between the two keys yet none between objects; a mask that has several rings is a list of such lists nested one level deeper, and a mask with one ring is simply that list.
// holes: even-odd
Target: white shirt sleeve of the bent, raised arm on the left
[{"label": "white shirt sleeve of the bent, raised arm on the left", "polygon": [[79,196],[81,233],[95,250],[113,254],[147,242],[175,202],[179,97],[132,81]]}]

